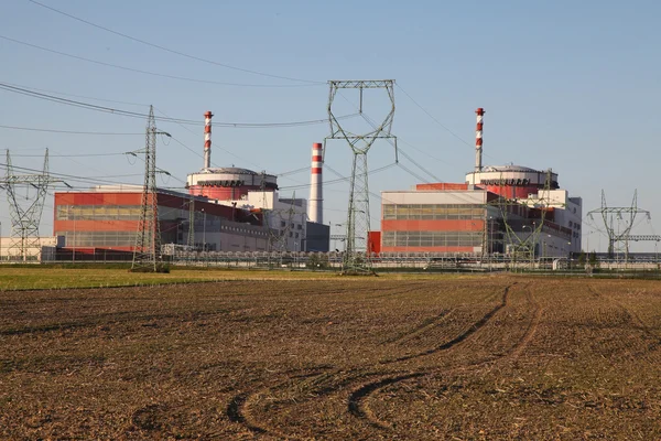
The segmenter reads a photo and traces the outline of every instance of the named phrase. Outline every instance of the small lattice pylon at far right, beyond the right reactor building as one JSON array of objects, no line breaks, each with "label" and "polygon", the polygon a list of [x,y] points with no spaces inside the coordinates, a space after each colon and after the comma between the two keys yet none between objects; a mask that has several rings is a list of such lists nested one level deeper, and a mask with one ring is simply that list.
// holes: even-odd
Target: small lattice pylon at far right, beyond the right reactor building
[{"label": "small lattice pylon at far right, beyond the right reactor building", "polygon": [[604,220],[604,226],[608,233],[608,256],[614,257],[616,254],[624,254],[625,260],[629,260],[629,241],[638,236],[631,236],[633,220],[638,214],[644,214],[649,219],[650,212],[638,208],[638,190],[633,192],[633,201],[630,207],[609,207],[606,204],[606,193],[602,190],[602,207],[593,209],[587,215],[594,218],[593,215],[600,214]]}]

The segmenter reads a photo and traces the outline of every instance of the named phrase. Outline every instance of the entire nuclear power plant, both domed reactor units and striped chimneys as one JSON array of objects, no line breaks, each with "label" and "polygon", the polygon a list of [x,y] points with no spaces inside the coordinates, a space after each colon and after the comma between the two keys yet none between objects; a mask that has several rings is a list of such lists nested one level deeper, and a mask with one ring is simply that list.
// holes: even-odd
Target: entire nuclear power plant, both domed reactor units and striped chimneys
[{"label": "entire nuclear power plant, both domed reactor units and striped chimneys", "polygon": [[[563,189],[550,168],[483,164],[486,110],[478,108],[475,114],[473,170],[458,182],[421,182],[411,189],[381,191],[380,228],[368,230],[364,248],[353,252],[367,259],[539,260],[571,258],[582,251],[582,198]],[[156,189],[145,195],[145,186],[118,184],[55,192],[54,238],[31,240],[30,246],[24,245],[26,239],[0,238],[0,259],[48,256],[76,261],[102,254],[105,260],[127,260],[137,250],[144,203],[152,200],[163,255],[314,251],[333,256],[330,226],[324,224],[323,144],[313,142],[312,150],[299,150],[301,155],[311,154],[308,198],[282,197],[278,175],[267,170],[212,165],[213,117],[212,111],[204,112],[203,166],[187,174],[185,191]],[[608,207],[600,212],[607,213]],[[609,250],[618,240],[660,239],[616,233],[609,237]],[[337,246],[338,239],[347,237],[333,238]],[[24,245],[20,254],[18,243]],[[628,252],[627,243],[625,247],[620,246]],[[342,262],[342,256],[336,261]]]}]

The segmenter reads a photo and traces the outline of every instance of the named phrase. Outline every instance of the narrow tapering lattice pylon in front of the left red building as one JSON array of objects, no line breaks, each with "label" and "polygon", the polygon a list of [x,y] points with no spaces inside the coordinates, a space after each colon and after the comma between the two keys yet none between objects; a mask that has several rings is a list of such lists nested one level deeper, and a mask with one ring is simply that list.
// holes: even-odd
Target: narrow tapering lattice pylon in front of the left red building
[{"label": "narrow tapering lattice pylon in front of the left red building", "polygon": [[133,250],[131,271],[161,271],[161,227],[159,224],[159,201],[156,192],[156,122],[154,108],[149,108],[144,153],[144,186],[140,223]]}]

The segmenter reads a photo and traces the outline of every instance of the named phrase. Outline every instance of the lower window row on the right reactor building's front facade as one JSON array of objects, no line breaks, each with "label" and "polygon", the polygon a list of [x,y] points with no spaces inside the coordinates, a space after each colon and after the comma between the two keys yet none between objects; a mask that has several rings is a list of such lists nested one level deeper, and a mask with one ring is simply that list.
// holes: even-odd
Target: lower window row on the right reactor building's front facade
[{"label": "lower window row on the right reactor building's front facade", "polygon": [[484,232],[383,232],[383,247],[479,247]]}]

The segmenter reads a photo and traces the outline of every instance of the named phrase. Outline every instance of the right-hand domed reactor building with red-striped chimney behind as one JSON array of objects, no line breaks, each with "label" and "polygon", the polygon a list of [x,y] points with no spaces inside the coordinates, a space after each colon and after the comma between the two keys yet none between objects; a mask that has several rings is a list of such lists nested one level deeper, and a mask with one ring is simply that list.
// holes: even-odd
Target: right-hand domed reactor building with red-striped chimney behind
[{"label": "right-hand domed reactor building with red-striped chimney behind", "polygon": [[522,251],[535,258],[581,251],[581,197],[570,197],[550,169],[483,166],[485,110],[475,112],[475,169],[465,182],[381,192],[381,234],[371,235],[370,249],[440,257]]}]

